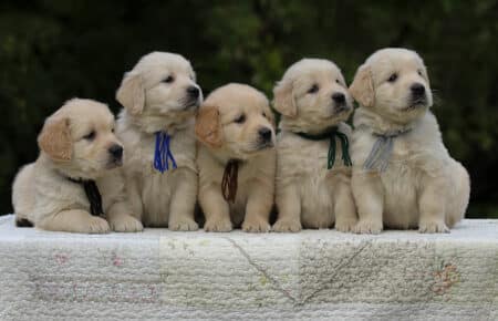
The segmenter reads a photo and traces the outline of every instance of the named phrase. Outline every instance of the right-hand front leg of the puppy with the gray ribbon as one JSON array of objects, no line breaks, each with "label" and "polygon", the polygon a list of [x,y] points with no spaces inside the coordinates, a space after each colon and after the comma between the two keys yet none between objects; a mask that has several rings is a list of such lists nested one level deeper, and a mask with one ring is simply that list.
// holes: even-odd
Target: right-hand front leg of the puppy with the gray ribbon
[{"label": "right-hand front leg of the puppy with the gray ribbon", "polygon": [[419,232],[449,232],[445,224],[446,193],[448,186],[444,177],[424,177],[418,210]]}]

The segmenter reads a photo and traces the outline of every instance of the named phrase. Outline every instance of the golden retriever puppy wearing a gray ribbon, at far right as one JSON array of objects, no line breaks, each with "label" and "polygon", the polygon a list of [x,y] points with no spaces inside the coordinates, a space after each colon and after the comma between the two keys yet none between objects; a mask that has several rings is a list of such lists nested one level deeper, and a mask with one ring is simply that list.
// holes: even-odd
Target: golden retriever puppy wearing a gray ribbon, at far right
[{"label": "golden retriever puppy wearing a gray ribbon, at far right", "polygon": [[361,105],[352,142],[355,230],[448,232],[465,215],[470,183],[429,112],[423,60],[406,49],[380,50],[360,66],[350,92]]}]

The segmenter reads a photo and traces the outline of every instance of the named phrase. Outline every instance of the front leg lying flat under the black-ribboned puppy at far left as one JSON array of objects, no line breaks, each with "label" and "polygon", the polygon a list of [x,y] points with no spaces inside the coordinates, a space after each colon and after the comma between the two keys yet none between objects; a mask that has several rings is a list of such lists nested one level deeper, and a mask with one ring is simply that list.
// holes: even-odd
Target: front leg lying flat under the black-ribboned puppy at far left
[{"label": "front leg lying flat under the black-ribboned puppy at far left", "polygon": [[105,219],[81,209],[63,210],[35,224],[45,230],[101,234],[110,230]]}]

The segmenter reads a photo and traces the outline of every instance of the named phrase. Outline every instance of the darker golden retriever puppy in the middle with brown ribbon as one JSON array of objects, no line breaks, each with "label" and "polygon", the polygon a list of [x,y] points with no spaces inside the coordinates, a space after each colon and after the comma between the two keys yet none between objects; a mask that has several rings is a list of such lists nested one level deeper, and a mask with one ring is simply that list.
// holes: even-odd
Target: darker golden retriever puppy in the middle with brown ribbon
[{"label": "darker golden retriever puppy in the middle with brown ribbon", "polygon": [[273,115],[243,84],[214,91],[199,110],[199,203],[207,231],[269,231],[276,170]]}]

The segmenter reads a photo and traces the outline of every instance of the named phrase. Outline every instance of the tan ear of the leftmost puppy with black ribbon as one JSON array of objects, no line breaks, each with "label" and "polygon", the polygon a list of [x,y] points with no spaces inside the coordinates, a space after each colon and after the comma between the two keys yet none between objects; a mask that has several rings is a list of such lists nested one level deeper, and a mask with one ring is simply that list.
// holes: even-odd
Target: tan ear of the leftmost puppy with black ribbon
[{"label": "tan ear of the leftmost puppy with black ribbon", "polygon": [[53,161],[71,161],[73,142],[71,139],[70,120],[66,117],[46,120],[38,136],[38,145]]}]

